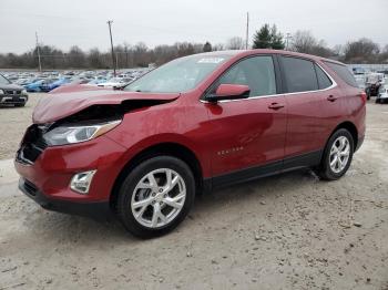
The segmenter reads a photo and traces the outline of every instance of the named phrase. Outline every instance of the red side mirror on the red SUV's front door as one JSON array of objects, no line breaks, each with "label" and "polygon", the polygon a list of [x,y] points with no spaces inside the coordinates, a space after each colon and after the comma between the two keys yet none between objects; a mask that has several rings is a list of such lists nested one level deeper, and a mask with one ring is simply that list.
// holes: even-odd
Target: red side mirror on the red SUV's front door
[{"label": "red side mirror on the red SUV's front door", "polygon": [[206,101],[216,103],[223,100],[247,99],[251,89],[245,84],[221,84],[215,94],[206,96]]}]

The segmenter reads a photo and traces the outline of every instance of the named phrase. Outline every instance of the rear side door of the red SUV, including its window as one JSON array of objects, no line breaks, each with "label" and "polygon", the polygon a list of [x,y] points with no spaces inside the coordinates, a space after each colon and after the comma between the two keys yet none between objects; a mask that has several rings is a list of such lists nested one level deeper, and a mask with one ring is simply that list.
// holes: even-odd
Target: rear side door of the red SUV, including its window
[{"label": "rear side door of the red SUV, including its window", "polygon": [[335,101],[341,92],[315,62],[295,56],[280,60],[288,113],[285,167],[317,163],[331,127],[330,112],[336,112]]}]

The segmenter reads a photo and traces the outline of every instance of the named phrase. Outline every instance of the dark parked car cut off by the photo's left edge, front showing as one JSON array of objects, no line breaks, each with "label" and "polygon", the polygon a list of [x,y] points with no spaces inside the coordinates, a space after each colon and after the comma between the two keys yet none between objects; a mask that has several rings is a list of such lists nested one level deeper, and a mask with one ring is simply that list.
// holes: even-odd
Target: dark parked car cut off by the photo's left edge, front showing
[{"label": "dark parked car cut off by the photo's left edge, front showing", "polygon": [[12,84],[0,74],[0,105],[24,106],[27,101],[28,95],[24,87]]}]

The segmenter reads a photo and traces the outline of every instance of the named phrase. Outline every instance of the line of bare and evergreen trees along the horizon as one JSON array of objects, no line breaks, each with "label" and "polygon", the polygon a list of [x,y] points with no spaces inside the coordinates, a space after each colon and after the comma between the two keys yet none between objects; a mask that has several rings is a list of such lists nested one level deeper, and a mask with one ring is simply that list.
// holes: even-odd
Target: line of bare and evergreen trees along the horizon
[{"label": "line of bare and evergreen trees along the horizon", "polygon": [[[253,37],[252,49],[289,50],[336,59],[345,63],[388,63],[388,44],[380,48],[374,41],[363,38],[329,48],[324,40],[318,40],[310,31],[297,31],[286,37],[275,24],[264,24]],[[145,43],[135,45],[123,43],[114,48],[114,62],[119,69],[144,68],[150,63],[163,64],[173,59],[200,52],[245,49],[243,38],[234,37],[226,43],[212,44],[176,42],[175,44],[147,48]],[[52,45],[39,45],[42,68],[48,69],[109,69],[112,68],[110,51],[98,48],[83,51],[74,45],[62,51]],[[38,68],[38,49],[28,52],[0,53],[0,68],[35,69]]]}]

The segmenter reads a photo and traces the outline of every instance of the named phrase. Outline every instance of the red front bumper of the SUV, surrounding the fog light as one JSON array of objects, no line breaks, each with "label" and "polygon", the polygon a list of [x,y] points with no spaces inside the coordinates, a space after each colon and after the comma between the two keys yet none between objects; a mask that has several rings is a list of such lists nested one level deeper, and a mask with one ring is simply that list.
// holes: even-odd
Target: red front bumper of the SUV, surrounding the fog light
[{"label": "red front bumper of the SUV, surrounding the fog light", "polygon": [[[123,146],[105,136],[81,144],[49,146],[29,163],[25,158],[33,155],[23,155],[22,147],[14,160],[21,177],[19,188],[43,208],[105,217],[124,153]],[[88,170],[95,170],[88,193],[73,190],[74,175]]]}]

